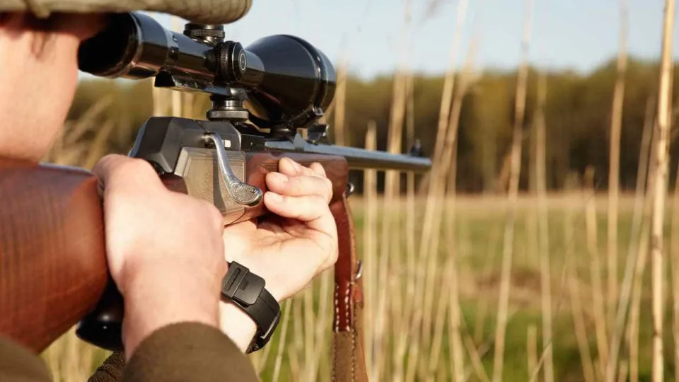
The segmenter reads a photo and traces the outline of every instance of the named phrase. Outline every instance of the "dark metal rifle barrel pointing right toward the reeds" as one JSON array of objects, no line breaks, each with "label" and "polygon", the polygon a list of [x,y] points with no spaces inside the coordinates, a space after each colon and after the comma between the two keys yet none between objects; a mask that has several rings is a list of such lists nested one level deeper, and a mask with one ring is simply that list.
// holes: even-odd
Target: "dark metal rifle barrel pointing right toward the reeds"
[{"label": "dark metal rifle barrel pointing right toward the reeds", "polygon": [[391,154],[384,151],[371,151],[356,147],[333,146],[330,144],[311,144],[303,139],[295,141],[267,141],[269,151],[289,151],[307,154],[344,156],[349,168],[377,170],[401,170],[424,173],[431,168],[431,160],[420,156]]}]

